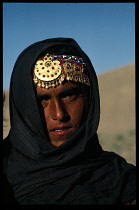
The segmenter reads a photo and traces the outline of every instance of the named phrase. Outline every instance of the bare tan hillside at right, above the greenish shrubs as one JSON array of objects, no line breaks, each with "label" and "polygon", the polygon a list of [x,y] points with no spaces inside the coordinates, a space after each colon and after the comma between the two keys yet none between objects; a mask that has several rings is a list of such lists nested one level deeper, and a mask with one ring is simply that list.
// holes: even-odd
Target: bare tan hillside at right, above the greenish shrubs
[{"label": "bare tan hillside at right, above the greenish shrubs", "polygon": [[101,99],[100,131],[135,128],[135,65],[98,77]]}]

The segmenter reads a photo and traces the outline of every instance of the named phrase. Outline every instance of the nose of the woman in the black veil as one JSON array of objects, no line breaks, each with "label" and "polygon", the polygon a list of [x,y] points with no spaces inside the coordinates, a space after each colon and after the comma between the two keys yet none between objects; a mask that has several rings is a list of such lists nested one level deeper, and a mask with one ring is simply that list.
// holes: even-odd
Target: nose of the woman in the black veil
[{"label": "nose of the woman in the black veil", "polygon": [[66,111],[64,104],[60,99],[51,99],[50,102],[51,117],[53,120],[58,120],[60,122],[68,121],[70,116]]}]

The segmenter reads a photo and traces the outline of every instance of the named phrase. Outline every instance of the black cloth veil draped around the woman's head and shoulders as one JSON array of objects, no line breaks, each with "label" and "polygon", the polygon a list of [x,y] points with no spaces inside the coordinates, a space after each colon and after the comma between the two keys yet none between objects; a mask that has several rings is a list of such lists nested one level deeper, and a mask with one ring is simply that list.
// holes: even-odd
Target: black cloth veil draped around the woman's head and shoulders
[{"label": "black cloth veil draped around the woman's head and shoulders", "polygon": [[[32,80],[39,56],[51,46],[76,50],[91,80],[91,104],[86,122],[64,144],[52,145],[43,129]],[[70,38],[47,39],[18,57],[10,84],[12,148],[5,173],[20,205],[122,204],[133,201],[135,166],[103,151],[97,137],[100,102],[98,82],[88,56]]]}]

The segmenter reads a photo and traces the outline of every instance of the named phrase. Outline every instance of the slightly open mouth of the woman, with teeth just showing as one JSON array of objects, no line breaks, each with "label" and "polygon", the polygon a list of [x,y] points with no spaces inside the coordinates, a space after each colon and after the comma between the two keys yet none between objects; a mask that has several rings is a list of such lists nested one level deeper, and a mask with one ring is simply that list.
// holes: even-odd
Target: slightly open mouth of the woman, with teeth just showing
[{"label": "slightly open mouth of the woman, with teeth just showing", "polygon": [[72,131],[72,129],[72,127],[56,127],[50,130],[50,133],[54,136],[64,136],[68,135]]}]

